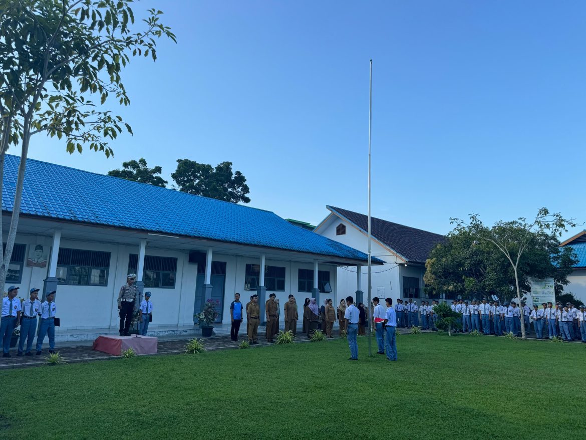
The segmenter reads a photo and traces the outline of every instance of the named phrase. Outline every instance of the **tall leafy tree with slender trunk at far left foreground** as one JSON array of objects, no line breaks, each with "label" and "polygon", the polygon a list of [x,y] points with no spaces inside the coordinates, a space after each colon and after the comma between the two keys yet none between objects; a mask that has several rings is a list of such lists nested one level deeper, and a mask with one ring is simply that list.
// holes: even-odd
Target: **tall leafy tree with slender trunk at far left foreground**
[{"label": "tall leafy tree with slender trunk at far left foreground", "polygon": [[[0,186],[10,145],[21,145],[11,224],[0,266],[6,268],[18,227],[30,138],[65,138],[69,153],[113,154],[108,141],[130,125],[105,109],[108,99],[128,105],[121,71],[130,56],[156,60],[156,39],[175,35],[150,9],[141,32],[132,32],[131,0],[0,0]],[[93,97],[97,98],[94,102]],[[2,188],[0,187],[0,197]],[[1,203],[1,199],[0,199]],[[0,243],[2,242],[0,228]]]}]

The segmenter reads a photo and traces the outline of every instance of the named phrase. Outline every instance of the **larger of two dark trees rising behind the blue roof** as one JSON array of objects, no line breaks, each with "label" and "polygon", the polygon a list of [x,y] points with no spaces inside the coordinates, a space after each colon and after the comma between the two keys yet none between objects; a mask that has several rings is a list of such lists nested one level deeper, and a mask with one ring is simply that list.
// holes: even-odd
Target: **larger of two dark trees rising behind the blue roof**
[{"label": "larger of two dark trees rising behind the blue roof", "polygon": [[189,159],[178,159],[177,170],[171,177],[179,191],[203,195],[225,202],[250,203],[246,178],[240,171],[232,171],[231,162],[212,165],[200,164]]}]

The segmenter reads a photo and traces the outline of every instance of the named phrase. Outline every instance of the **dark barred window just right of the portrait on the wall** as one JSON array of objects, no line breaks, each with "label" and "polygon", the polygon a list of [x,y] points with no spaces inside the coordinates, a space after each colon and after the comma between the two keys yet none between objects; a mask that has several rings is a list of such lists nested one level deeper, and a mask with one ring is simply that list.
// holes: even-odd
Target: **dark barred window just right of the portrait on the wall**
[{"label": "dark barred window just right of the portrait on the wall", "polygon": [[71,286],[105,286],[108,284],[110,252],[59,249],[57,282]]}]

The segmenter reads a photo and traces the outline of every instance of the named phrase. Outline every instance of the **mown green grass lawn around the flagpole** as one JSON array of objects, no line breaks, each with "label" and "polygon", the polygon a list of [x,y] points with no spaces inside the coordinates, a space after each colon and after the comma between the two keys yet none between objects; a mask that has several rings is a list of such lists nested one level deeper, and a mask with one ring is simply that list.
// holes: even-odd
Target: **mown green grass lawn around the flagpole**
[{"label": "mown green grass lawn around the flagpole", "polygon": [[0,438],[585,438],[586,344],[397,339],[1,371]]}]

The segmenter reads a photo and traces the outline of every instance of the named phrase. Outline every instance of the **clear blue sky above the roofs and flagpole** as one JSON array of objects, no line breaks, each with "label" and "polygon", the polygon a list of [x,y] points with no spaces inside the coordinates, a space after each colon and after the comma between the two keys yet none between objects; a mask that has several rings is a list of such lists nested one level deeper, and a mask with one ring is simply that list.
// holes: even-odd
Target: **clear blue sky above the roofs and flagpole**
[{"label": "clear blue sky above the roofs and flagpole", "polygon": [[113,159],[37,136],[30,157],[104,174],[144,157],[170,182],[178,158],[226,160],[253,207],[366,213],[372,58],[374,216],[439,233],[470,212],[586,220],[583,1],[149,0],[135,16],[151,7],[178,43],[123,73],[131,105],[112,106],[134,136]]}]

